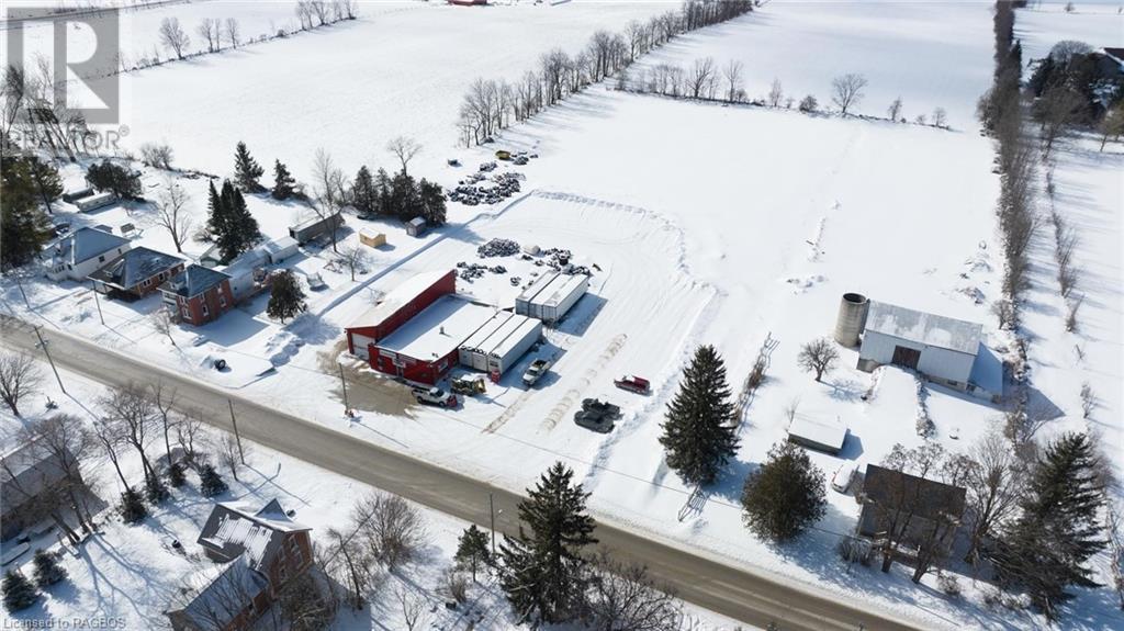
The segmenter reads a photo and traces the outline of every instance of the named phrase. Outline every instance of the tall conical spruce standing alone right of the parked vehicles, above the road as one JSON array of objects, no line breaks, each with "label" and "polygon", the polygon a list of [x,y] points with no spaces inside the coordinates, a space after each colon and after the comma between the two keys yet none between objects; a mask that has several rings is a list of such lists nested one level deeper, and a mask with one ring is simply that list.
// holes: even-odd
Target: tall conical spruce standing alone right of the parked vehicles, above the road
[{"label": "tall conical spruce standing alone right of the parked vehicles, above the road", "polygon": [[668,466],[689,484],[710,484],[737,449],[726,366],[713,346],[695,351],[668,404],[663,445]]}]

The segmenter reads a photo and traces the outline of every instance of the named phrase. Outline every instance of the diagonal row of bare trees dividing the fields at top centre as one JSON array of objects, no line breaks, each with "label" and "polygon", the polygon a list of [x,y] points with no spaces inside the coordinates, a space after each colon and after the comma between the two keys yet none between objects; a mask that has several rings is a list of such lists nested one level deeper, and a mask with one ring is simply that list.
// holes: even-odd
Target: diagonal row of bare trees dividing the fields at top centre
[{"label": "diagonal row of bare trees dividing the fields at top centre", "polygon": [[525,120],[627,68],[640,56],[672,38],[753,10],[750,0],[686,0],[679,11],[633,20],[624,33],[596,31],[582,51],[544,53],[537,70],[517,81],[477,79],[461,102],[457,130],[464,146],[481,144],[513,121]]}]

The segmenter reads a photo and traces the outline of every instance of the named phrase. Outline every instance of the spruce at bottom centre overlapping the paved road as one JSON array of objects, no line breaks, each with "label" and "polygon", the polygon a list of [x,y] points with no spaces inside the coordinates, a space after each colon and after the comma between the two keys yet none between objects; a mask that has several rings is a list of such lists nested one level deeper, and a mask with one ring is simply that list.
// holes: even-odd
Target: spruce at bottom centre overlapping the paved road
[{"label": "spruce at bottom centre overlapping the paved road", "polygon": [[581,484],[573,483],[573,472],[556,463],[519,502],[519,534],[505,537],[500,546],[500,584],[522,620],[558,623],[577,618],[586,589],[581,551],[597,543],[587,497]]}]

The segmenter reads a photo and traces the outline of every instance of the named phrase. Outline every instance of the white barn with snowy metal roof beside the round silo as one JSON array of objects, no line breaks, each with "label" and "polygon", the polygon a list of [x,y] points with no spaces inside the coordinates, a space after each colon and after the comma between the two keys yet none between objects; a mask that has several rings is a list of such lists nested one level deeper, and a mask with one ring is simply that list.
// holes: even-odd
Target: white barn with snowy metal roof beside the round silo
[{"label": "white barn with snowy metal roof beside the round silo", "polygon": [[984,326],[885,302],[870,302],[859,369],[891,364],[985,399],[1003,394],[1003,367],[982,344]]}]

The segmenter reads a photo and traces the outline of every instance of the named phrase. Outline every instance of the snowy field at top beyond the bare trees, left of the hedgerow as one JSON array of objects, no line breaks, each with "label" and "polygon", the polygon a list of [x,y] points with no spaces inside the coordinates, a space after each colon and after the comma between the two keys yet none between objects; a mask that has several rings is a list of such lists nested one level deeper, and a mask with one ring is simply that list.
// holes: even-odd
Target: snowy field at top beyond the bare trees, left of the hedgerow
[{"label": "snowy field at top beyond the bare trees, left of the hedgerow", "polygon": [[971,130],[976,97],[991,81],[991,66],[979,56],[991,39],[990,11],[988,2],[776,0],[680,37],[629,72],[651,72],[659,64],[690,68],[704,57],[713,57],[720,72],[737,61],[750,99],[764,100],[776,79],[796,103],[812,94],[822,108],[834,109],[832,80],[856,73],[870,84],[854,113],[885,117],[900,97],[899,116],[932,120],[933,110],[944,108],[950,126]]}]

